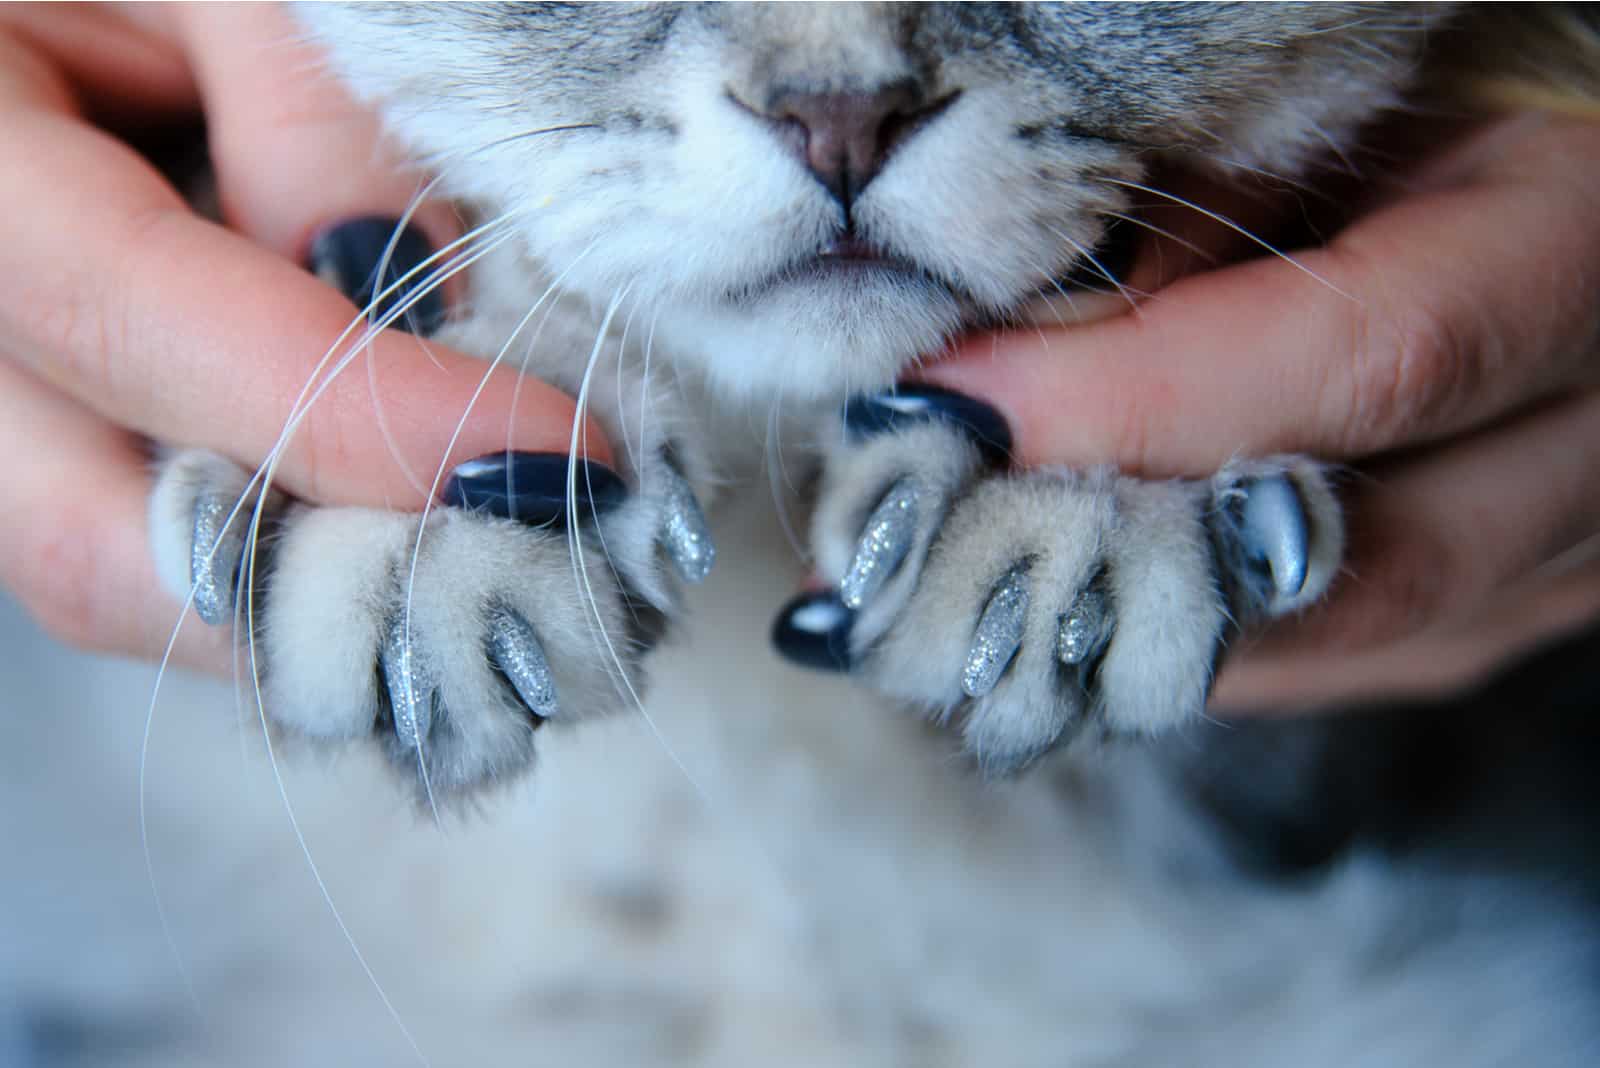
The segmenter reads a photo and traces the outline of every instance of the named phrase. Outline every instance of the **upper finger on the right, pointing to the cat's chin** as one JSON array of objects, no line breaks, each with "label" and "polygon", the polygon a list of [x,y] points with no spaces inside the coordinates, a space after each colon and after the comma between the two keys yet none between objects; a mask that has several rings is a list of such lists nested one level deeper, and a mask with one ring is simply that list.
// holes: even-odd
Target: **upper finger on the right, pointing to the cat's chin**
[{"label": "upper finger on the right, pointing to the cat's chin", "polygon": [[1483,136],[1509,145],[1462,149],[1470,165],[1437,168],[1437,189],[1296,265],[1194,275],[1136,315],[1045,342],[973,339],[922,374],[995,404],[1024,465],[1149,475],[1238,454],[1370,456],[1592,379],[1600,126],[1531,117]]}]

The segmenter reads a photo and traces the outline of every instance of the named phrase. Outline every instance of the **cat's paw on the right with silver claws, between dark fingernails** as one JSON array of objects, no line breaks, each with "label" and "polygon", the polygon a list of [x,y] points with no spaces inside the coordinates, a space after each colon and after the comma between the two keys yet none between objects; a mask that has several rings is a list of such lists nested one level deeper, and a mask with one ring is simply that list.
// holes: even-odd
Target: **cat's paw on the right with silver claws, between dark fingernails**
[{"label": "cat's paw on the right with silver claws, between dark fingernails", "polygon": [[1086,724],[1141,734],[1198,716],[1229,636],[1333,579],[1342,524],[1310,460],[1205,481],[1011,473],[1003,428],[958,404],[851,406],[811,531],[832,590],[790,606],[776,640],[958,723],[987,772]]}]

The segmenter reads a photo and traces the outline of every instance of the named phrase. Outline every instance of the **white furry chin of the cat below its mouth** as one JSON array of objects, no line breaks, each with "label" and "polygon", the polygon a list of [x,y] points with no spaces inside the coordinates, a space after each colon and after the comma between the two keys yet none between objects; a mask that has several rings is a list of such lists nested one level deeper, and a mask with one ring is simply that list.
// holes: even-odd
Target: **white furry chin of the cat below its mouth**
[{"label": "white furry chin of the cat below its mouth", "polygon": [[970,320],[949,291],[925,285],[795,285],[738,304],[672,307],[664,339],[717,390],[750,403],[838,401],[888,389]]}]

